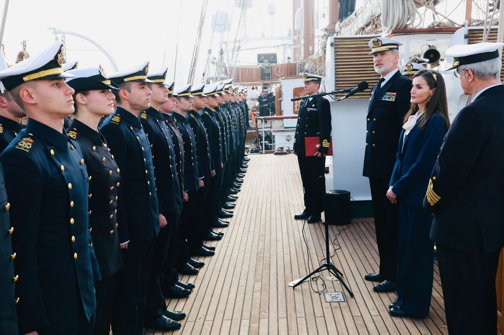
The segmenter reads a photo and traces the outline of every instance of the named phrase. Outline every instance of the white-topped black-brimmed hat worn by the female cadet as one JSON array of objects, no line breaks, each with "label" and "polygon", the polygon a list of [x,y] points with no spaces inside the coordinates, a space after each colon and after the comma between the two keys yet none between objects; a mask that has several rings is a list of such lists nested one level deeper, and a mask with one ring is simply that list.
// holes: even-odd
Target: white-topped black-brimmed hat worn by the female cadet
[{"label": "white-topped black-brimmed hat worn by the female cadet", "polygon": [[76,68],[66,73],[75,75],[75,77],[66,79],[68,85],[75,92],[119,89],[114,82],[110,81],[101,65],[98,67]]}]

